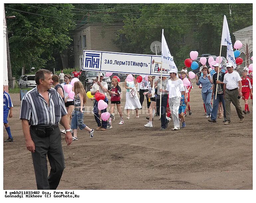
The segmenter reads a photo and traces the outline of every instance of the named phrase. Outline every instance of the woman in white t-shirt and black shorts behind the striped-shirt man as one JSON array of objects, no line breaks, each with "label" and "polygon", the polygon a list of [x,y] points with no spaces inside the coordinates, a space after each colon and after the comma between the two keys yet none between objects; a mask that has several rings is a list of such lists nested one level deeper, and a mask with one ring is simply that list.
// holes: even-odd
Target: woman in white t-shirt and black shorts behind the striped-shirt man
[{"label": "woman in white t-shirt and black shorts behind the striped-shirt man", "polygon": [[[65,74],[64,75],[64,83],[62,83],[62,87],[64,89],[64,98],[65,98],[65,107],[67,110],[67,118],[71,117],[71,112],[73,111],[74,108],[74,98],[70,98],[68,93],[72,91],[72,85],[70,84],[72,80],[72,77],[69,74]],[[69,85],[68,85],[69,84]],[[66,85],[66,86],[65,86]],[[66,88],[68,85],[68,89]],[[70,85],[71,85],[71,89],[70,89]]]}]

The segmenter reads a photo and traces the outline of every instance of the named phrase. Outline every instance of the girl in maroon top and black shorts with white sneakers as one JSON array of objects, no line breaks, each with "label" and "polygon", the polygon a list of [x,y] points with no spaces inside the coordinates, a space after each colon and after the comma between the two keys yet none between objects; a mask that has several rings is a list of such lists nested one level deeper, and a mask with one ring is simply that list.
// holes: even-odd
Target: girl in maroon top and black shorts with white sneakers
[{"label": "girl in maroon top and black shorts with white sneakers", "polygon": [[[116,78],[112,78],[112,87],[110,88],[110,90],[108,90],[109,95],[111,96],[111,104],[110,104],[110,118],[109,118],[109,124],[111,127],[109,127],[109,129],[112,128],[112,121],[115,120],[115,115],[114,115],[114,108],[115,108],[115,104],[117,107],[117,111],[120,115],[120,122],[119,125],[122,125],[124,123],[124,119],[123,119],[123,113],[121,110],[121,87],[118,85],[118,81]],[[108,129],[108,128],[107,128]]]}]

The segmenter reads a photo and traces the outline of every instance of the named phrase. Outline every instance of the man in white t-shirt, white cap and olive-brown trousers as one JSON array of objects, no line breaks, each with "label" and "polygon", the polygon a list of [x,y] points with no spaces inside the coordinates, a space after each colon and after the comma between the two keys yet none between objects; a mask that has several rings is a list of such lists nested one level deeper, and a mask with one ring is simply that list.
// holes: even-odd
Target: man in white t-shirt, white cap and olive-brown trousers
[{"label": "man in white t-shirt, white cap and olive-brown trousers", "polygon": [[[233,71],[233,66],[231,63],[227,63],[226,65],[228,73],[225,74],[223,79],[223,90],[224,90],[224,98],[225,98],[225,106],[226,106],[226,122],[224,125],[228,125],[230,123],[230,103],[235,106],[237,115],[240,119],[239,123],[244,122],[244,114],[242,108],[240,106],[240,97],[242,96],[242,82],[239,73]],[[238,89],[239,87],[239,89]]]}]

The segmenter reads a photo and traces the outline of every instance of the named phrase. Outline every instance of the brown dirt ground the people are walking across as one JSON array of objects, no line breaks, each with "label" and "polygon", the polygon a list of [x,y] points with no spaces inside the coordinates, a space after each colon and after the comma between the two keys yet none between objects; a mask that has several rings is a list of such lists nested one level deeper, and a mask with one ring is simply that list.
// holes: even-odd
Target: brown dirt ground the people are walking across
[{"label": "brown dirt ground the people are walking across", "polygon": [[[31,153],[26,149],[19,120],[19,94],[11,97],[15,108],[13,118],[8,120],[14,142],[3,143],[3,188],[37,189]],[[243,108],[244,101],[240,99],[240,103]],[[231,105],[232,121],[228,126],[222,119],[209,123],[202,104],[200,89],[194,85],[192,115],[186,117],[187,127],[178,131],[171,130],[172,121],[167,130],[159,131],[159,117],[155,117],[153,128],[144,127],[144,101],[139,119],[133,111],[130,120],[118,125],[116,112],[113,128],[95,131],[92,139],[88,132],[78,131],[78,140],[66,146],[63,135],[66,168],[58,189],[252,189],[251,100],[251,113],[245,115],[242,124]],[[92,101],[88,101],[87,110],[91,107]],[[84,116],[84,123],[97,127],[92,113]]]}]

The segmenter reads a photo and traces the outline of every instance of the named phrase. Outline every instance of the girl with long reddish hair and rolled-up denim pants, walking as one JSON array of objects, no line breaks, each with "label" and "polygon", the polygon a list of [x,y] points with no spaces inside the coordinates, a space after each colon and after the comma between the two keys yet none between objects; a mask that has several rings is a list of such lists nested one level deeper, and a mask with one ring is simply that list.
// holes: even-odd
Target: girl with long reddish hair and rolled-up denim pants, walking
[{"label": "girl with long reddish hair and rolled-up denim pants, walking", "polygon": [[77,138],[77,127],[80,130],[85,129],[89,132],[90,138],[93,137],[94,129],[89,128],[83,123],[83,115],[84,115],[84,104],[87,102],[86,92],[83,88],[83,85],[80,81],[74,82],[74,110],[72,112],[72,121],[71,121],[71,129],[73,130],[74,140],[78,140]]}]

